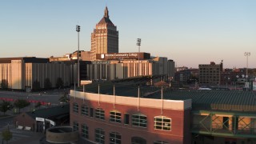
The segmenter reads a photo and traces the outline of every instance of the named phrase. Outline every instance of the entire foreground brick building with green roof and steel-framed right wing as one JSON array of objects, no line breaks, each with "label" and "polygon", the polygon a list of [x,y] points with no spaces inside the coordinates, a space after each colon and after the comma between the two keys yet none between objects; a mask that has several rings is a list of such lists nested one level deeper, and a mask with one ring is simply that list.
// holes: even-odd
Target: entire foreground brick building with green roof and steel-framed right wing
[{"label": "entire foreground brick building with green roof and steel-framed right wing", "polygon": [[95,82],[70,91],[70,126],[86,142],[256,142],[255,93]]}]

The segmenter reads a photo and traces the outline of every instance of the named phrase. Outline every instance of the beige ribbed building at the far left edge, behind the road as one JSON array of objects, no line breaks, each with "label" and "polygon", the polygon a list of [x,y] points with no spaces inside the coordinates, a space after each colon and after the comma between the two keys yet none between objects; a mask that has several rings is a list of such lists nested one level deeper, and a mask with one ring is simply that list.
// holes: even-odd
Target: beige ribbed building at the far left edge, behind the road
[{"label": "beige ribbed building at the far left edge, behind the road", "polygon": [[49,62],[49,58],[1,58],[0,82],[6,80],[9,89],[31,90],[34,82],[45,88],[48,79],[50,87],[55,87],[57,79],[61,78],[63,86],[70,86],[77,75],[74,67],[64,62]]}]

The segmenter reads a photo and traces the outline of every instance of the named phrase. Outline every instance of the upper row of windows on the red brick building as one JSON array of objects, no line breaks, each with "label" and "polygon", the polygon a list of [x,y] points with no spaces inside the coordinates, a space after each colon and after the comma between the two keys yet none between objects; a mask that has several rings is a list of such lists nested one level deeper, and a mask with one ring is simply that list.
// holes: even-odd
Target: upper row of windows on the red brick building
[{"label": "upper row of windows on the red brick building", "polygon": [[[78,114],[78,104],[73,103],[73,112]],[[81,106],[81,114],[85,116],[94,117],[97,119],[105,120],[105,110],[102,108],[90,108],[89,106]],[[94,116],[95,114],[95,116]],[[124,115],[124,124],[129,125],[130,114]],[[122,123],[122,114],[117,110],[110,111],[110,122]],[[144,114],[132,114],[131,125],[138,127],[147,127],[147,117]],[[171,130],[171,118],[165,116],[154,117],[154,129],[155,130]]]}]

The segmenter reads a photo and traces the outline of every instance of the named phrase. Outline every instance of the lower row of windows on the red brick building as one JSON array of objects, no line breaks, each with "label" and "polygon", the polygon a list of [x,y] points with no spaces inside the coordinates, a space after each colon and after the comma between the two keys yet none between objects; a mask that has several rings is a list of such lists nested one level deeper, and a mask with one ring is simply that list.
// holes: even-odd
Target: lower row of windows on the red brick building
[{"label": "lower row of windows on the red brick building", "polygon": [[[73,122],[73,128],[74,130],[79,130],[78,129],[78,122]],[[89,139],[89,127],[86,124],[81,125],[81,135],[82,138]],[[94,130],[94,135],[95,135],[95,142],[104,144],[105,143],[105,138],[106,134],[105,131],[97,128]],[[146,140],[144,138],[139,138],[139,137],[134,137],[131,138],[132,144],[133,143],[146,143]],[[110,144],[121,144],[122,142],[122,135],[116,132],[110,132],[109,134],[109,142]],[[154,141],[154,144],[168,144],[168,142],[163,142],[163,141]]]}]

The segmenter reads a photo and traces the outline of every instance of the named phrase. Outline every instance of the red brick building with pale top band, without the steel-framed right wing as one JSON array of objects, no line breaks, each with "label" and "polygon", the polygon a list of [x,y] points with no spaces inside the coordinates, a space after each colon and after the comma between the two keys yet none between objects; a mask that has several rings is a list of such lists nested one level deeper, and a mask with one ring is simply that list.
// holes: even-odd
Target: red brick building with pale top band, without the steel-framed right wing
[{"label": "red brick building with pale top band, without the steel-framed right wing", "polygon": [[86,92],[70,91],[70,126],[86,142],[191,142],[191,100],[145,98],[161,95],[154,88],[102,85],[100,93],[98,85],[86,87]]}]

